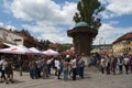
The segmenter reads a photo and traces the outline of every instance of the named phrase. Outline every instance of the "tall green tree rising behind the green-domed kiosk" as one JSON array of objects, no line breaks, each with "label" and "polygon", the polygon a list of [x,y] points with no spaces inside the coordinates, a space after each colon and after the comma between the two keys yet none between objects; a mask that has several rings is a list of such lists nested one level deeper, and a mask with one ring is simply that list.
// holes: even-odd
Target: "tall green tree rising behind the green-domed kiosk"
[{"label": "tall green tree rising behind the green-domed kiosk", "polygon": [[105,10],[98,0],[80,0],[77,3],[78,12],[75,13],[73,20],[78,22],[87,22],[90,29],[98,30],[101,26],[99,13]]}]

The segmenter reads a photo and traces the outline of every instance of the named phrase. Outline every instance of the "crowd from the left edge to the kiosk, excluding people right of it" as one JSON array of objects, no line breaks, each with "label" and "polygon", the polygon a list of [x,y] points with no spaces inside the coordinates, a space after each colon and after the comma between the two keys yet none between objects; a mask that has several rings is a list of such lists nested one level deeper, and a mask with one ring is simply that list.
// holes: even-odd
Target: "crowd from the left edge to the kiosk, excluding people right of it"
[{"label": "crowd from the left edge to the kiosk, excluding people right of it", "polygon": [[26,65],[32,79],[50,78],[54,72],[57,79],[67,80],[69,77],[76,80],[78,75],[84,78],[85,62],[82,55],[58,55],[58,56],[31,56],[23,59],[21,56],[0,56],[0,82],[14,82],[13,70],[19,70],[22,76],[23,65]]}]

